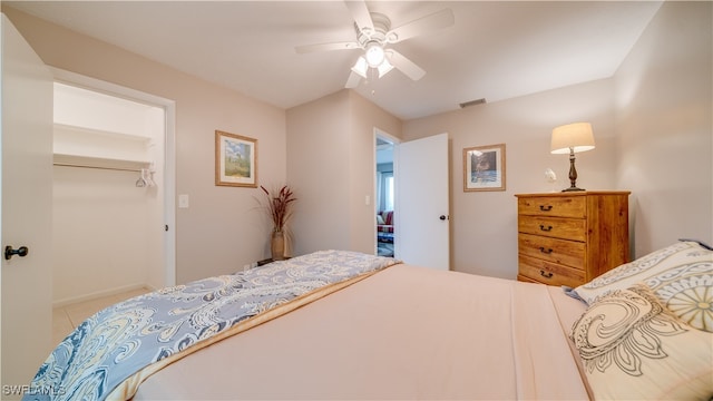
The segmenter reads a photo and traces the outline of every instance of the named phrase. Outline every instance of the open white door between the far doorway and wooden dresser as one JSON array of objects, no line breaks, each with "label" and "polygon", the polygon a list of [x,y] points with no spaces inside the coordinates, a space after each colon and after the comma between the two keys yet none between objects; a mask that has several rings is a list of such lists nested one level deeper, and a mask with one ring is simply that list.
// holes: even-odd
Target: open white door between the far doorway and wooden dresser
[{"label": "open white door between the far doorway and wooden dresser", "polygon": [[450,270],[448,134],[397,147],[395,257]]}]

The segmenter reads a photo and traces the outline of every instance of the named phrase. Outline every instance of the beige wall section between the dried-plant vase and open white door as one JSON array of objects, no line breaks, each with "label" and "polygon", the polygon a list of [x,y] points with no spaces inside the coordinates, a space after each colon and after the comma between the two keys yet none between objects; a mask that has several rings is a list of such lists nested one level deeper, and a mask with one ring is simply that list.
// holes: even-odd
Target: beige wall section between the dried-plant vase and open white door
[{"label": "beige wall section between the dried-plant vase and open white door", "polygon": [[300,198],[294,254],[374,252],[374,127],[401,134],[399,119],[351,90],[287,110],[287,180]]}]

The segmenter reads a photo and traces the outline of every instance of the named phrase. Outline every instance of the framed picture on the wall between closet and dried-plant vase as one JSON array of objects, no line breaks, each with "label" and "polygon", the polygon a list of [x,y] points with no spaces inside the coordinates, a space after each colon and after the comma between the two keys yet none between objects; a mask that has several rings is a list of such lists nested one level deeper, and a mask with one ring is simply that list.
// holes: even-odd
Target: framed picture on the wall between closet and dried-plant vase
[{"label": "framed picture on the wall between closet and dried-plant vase", "polygon": [[215,185],[257,187],[257,139],[215,131]]}]

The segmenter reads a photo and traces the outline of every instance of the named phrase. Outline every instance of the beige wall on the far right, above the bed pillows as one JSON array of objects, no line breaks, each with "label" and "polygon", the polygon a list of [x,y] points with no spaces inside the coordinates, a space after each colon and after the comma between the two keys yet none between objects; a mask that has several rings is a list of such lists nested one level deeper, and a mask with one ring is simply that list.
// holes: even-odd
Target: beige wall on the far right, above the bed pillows
[{"label": "beige wall on the far right, above the bed pillows", "polygon": [[665,2],[616,74],[617,179],[635,251],[713,243],[712,3]]}]

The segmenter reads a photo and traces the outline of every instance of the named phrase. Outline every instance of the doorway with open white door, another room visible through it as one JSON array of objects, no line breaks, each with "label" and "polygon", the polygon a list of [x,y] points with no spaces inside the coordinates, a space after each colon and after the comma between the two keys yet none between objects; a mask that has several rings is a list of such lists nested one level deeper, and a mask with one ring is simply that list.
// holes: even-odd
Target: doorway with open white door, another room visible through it
[{"label": "doorway with open white door, another room visible through it", "polygon": [[377,254],[392,251],[406,263],[450,268],[448,141],[448,134],[401,141],[374,129]]}]

